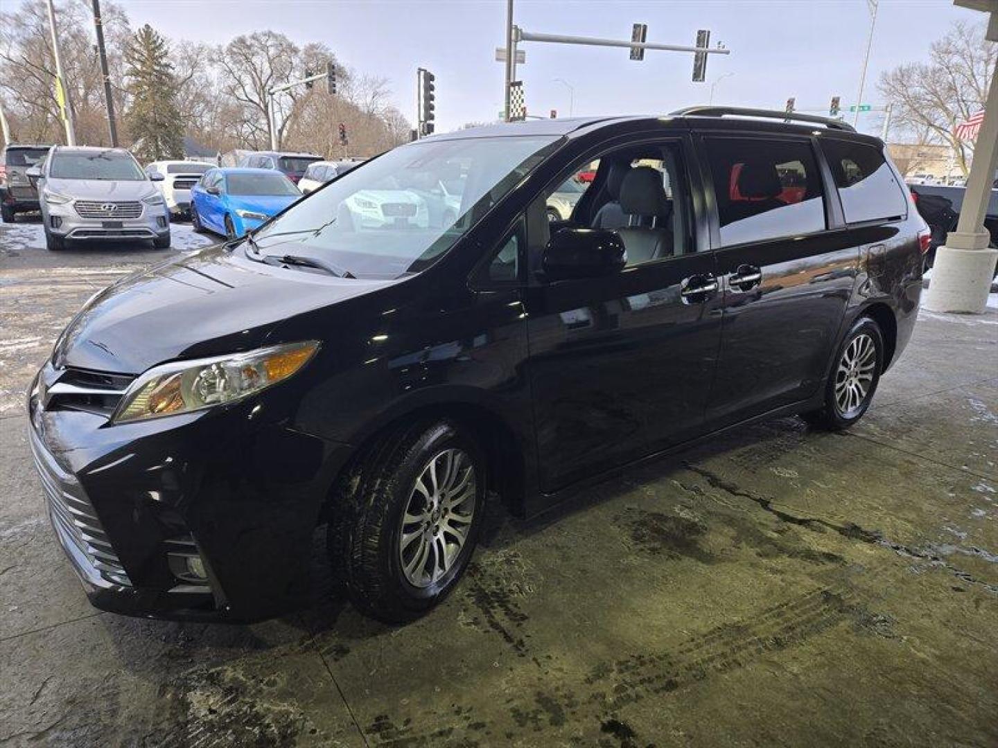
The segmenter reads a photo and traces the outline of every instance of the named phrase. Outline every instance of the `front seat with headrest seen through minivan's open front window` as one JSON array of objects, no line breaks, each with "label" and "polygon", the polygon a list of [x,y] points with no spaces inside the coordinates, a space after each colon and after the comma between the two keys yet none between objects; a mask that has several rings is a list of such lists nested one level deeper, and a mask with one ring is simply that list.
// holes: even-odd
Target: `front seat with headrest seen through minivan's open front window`
[{"label": "front seat with headrest seen through minivan's open front window", "polygon": [[673,253],[673,232],[664,227],[671,205],[662,185],[662,173],[651,167],[628,172],[621,186],[621,209],[629,225],[618,228],[627,248],[627,263],[636,265]]}]

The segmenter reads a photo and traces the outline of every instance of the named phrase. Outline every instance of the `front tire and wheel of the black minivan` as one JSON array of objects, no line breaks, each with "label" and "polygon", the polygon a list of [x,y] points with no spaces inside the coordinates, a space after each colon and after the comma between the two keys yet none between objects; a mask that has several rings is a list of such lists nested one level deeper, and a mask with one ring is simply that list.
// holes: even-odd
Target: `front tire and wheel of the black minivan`
[{"label": "front tire and wheel of the black minivan", "polygon": [[363,613],[404,623],[467,567],[485,509],[485,464],[447,420],[403,426],[341,479],[329,523],[333,571]]}]

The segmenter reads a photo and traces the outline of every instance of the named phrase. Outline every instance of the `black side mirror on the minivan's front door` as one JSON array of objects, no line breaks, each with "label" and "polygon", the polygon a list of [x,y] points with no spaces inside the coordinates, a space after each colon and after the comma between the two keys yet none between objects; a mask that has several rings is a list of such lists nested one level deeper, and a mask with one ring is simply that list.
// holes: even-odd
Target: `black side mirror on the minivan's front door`
[{"label": "black side mirror on the minivan's front door", "polygon": [[541,265],[549,281],[597,278],[619,272],[627,264],[624,241],[602,228],[562,228],[544,247]]}]

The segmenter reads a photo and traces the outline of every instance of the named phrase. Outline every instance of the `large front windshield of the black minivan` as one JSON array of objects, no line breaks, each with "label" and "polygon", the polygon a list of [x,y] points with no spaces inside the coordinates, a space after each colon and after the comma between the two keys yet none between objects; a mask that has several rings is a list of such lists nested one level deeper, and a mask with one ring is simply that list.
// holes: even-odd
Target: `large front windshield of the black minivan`
[{"label": "large front windshield of the black minivan", "polygon": [[[419,272],[443,256],[560,140],[505,136],[401,146],[289,207],[253,232],[255,246],[268,254],[282,244],[282,253],[324,260],[355,277]],[[441,184],[458,191],[445,193]]]}]

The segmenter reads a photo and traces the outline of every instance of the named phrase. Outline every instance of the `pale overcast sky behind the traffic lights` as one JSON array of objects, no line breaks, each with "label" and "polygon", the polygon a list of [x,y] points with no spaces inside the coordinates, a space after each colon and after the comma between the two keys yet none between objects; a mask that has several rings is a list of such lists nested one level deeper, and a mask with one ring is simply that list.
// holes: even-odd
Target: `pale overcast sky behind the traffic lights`
[{"label": "pale overcast sky behind the traffic lights", "polygon": [[[0,0],[6,4],[10,0]],[[149,23],[173,37],[224,43],[262,29],[298,44],[324,42],[343,64],[390,81],[396,106],[414,117],[415,70],[436,74],[437,130],[494,120],[502,107],[505,0],[118,0],[133,26]],[[691,79],[692,56],[648,52],[632,62],[626,49],[524,43],[519,69],[530,114],[662,114],[707,104],[826,110],[838,95],[855,101],[869,29],[866,0],[661,0],[659,2],[548,2],[516,0],[515,23],[528,31],[629,39],[631,25],[647,23],[648,41],[694,43],[711,30],[730,56],[713,55],[707,83]],[[949,0],[881,0],[867,77],[867,103],[877,104],[879,74],[923,60],[929,44],[953,21],[983,14]],[[879,115],[860,121],[876,132]]]}]

